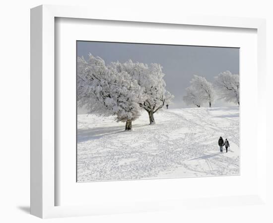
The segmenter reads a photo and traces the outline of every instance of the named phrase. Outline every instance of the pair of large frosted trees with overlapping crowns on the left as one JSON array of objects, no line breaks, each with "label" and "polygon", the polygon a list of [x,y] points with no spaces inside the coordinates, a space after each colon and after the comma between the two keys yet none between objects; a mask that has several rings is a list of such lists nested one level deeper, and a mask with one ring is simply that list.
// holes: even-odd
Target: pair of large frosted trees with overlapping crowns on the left
[{"label": "pair of large frosted trees with overlapping crowns on the left", "polygon": [[164,73],[158,63],[144,64],[128,60],[109,65],[100,57],[89,54],[77,58],[78,106],[104,116],[114,115],[116,121],[126,122],[126,130],[132,129],[132,121],[147,111],[150,124],[154,113],[174,98],[166,90]]}]

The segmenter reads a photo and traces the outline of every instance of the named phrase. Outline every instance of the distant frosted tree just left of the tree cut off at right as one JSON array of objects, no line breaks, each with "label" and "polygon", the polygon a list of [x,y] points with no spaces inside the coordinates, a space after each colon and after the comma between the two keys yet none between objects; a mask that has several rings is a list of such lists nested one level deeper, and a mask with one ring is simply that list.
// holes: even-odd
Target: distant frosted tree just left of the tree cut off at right
[{"label": "distant frosted tree just left of the tree cut off at right", "polygon": [[194,78],[191,80],[191,84],[204,103],[208,103],[209,108],[215,99],[215,91],[213,85],[208,82],[205,77],[194,75]]}]

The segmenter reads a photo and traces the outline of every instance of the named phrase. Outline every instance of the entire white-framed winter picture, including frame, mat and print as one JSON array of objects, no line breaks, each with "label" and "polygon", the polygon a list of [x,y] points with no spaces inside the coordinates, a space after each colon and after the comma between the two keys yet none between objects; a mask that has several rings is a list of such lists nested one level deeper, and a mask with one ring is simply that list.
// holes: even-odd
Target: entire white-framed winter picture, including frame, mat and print
[{"label": "entire white-framed winter picture, including frame, mat and print", "polygon": [[264,203],[265,27],[31,9],[31,214]]}]

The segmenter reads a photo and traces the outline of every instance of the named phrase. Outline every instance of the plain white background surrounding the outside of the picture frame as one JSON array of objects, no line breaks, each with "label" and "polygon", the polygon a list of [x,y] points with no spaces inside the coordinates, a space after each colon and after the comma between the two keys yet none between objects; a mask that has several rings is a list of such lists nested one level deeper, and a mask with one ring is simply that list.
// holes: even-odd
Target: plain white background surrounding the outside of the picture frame
[{"label": "plain white background surrounding the outside of the picture frame", "polygon": [[[29,215],[30,171],[30,8],[39,4],[89,5],[94,10],[124,7],[141,13],[184,12],[204,15],[229,15],[267,18],[268,114],[273,114],[273,6],[270,0],[9,0],[0,5],[0,222],[41,222]],[[92,13],[92,11],[90,11]],[[271,89],[269,89],[271,88]],[[271,138],[272,117],[268,117],[268,138]],[[266,136],[265,136],[266,140]],[[268,144],[269,146],[269,144]],[[272,146],[271,146],[272,147]],[[269,155],[273,153],[269,151]],[[273,169],[272,164],[268,164]],[[268,175],[273,175],[268,173]],[[269,190],[273,189],[272,176]],[[182,188],[183,189],[183,188]],[[202,187],[200,188],[202,189]],[[273,200],[272,192],[269,192]],[[114,216],[93,216],[50,219],[47,222],[272,222],[273,207],[247,206],[201,209],[187,212],[140,213]],[[45,220],[44,220],[45,221]]]}]

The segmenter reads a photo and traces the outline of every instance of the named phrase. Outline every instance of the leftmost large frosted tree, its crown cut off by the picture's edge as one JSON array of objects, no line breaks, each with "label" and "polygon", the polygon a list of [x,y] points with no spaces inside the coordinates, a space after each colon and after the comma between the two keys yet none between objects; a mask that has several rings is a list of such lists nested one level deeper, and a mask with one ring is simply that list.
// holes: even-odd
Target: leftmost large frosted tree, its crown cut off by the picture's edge
[{"label": "leftmost large frosted tree, its crown cut off by the picture's edge", "polygon": [[90,112],[114,115],[116,121],[126,122],[126,130],[132,129],[132,121],[139,117],[142,90],[137,81],[126,71],[118,71],[105,65],[100,57],[89,55],[77,59],[77,100]]}]

